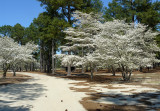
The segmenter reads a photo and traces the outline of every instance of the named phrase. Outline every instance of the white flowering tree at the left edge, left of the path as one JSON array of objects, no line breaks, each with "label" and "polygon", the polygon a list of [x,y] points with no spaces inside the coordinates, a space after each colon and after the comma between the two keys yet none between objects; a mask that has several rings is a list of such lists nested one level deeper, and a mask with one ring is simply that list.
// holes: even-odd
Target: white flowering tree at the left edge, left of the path
[{"label": "white flowering tree at the left edge, left of the path", "polygon": [[19,64],[32,60],[32,53],[37,48],[33,43],[21,46],[9,37],[0,38],[0,47],[0,64],[3,69],[3,77],[6,77],[9,68],[13,70],[15,76]]}]

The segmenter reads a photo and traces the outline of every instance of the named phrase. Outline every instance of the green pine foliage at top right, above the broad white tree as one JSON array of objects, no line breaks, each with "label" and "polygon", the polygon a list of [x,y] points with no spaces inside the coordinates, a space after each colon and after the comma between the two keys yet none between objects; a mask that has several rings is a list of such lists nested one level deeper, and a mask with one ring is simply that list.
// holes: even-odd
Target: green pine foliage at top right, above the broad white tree
[{"label": "green pine foliage at top right, above the broad white tree", "polygon": [[127,22],[140,22],[153,30],[160,23],[160,1],[152,0],[112,0],[105,9],[107,21],[126,19]]}]

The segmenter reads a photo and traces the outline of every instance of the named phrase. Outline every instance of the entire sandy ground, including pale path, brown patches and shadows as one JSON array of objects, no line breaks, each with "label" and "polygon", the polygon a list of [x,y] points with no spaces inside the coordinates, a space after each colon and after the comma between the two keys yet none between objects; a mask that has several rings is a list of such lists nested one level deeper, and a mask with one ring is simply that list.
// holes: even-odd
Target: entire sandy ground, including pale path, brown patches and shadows
[{"label": "entire sandy ground, including pale path, brown patches and shadows", "polygon": [[0,111],[160,111],[158,73],[135,74],[130,83],[20,74],[33,79],[0,87]]}]

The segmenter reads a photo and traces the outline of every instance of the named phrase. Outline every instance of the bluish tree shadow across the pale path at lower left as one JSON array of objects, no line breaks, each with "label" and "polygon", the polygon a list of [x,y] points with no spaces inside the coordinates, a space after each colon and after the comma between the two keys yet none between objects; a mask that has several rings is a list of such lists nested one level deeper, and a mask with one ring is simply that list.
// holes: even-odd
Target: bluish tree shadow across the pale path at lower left
[{"label": "bluish tree shadow across the pale path at lower left", "polygon": [[46,88],[42,84],[24,82],[0,86],[0,111],[29,111],[30,105],[12,107],[12,104],[33,101],[44,95]]}]

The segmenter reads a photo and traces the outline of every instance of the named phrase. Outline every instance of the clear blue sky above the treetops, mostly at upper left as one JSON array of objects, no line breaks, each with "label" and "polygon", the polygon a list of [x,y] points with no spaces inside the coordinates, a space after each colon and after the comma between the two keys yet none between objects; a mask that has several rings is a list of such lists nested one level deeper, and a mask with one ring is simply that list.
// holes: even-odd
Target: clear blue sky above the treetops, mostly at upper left
[{"label": "clear blue sky above the treetops, mostly at upper left", "polygon": [[[112,0],[102,0],[105,6]],[[28,27],[34,18],[45,11],[37,0],[0,0],[0,26],[20,23]]]}]

